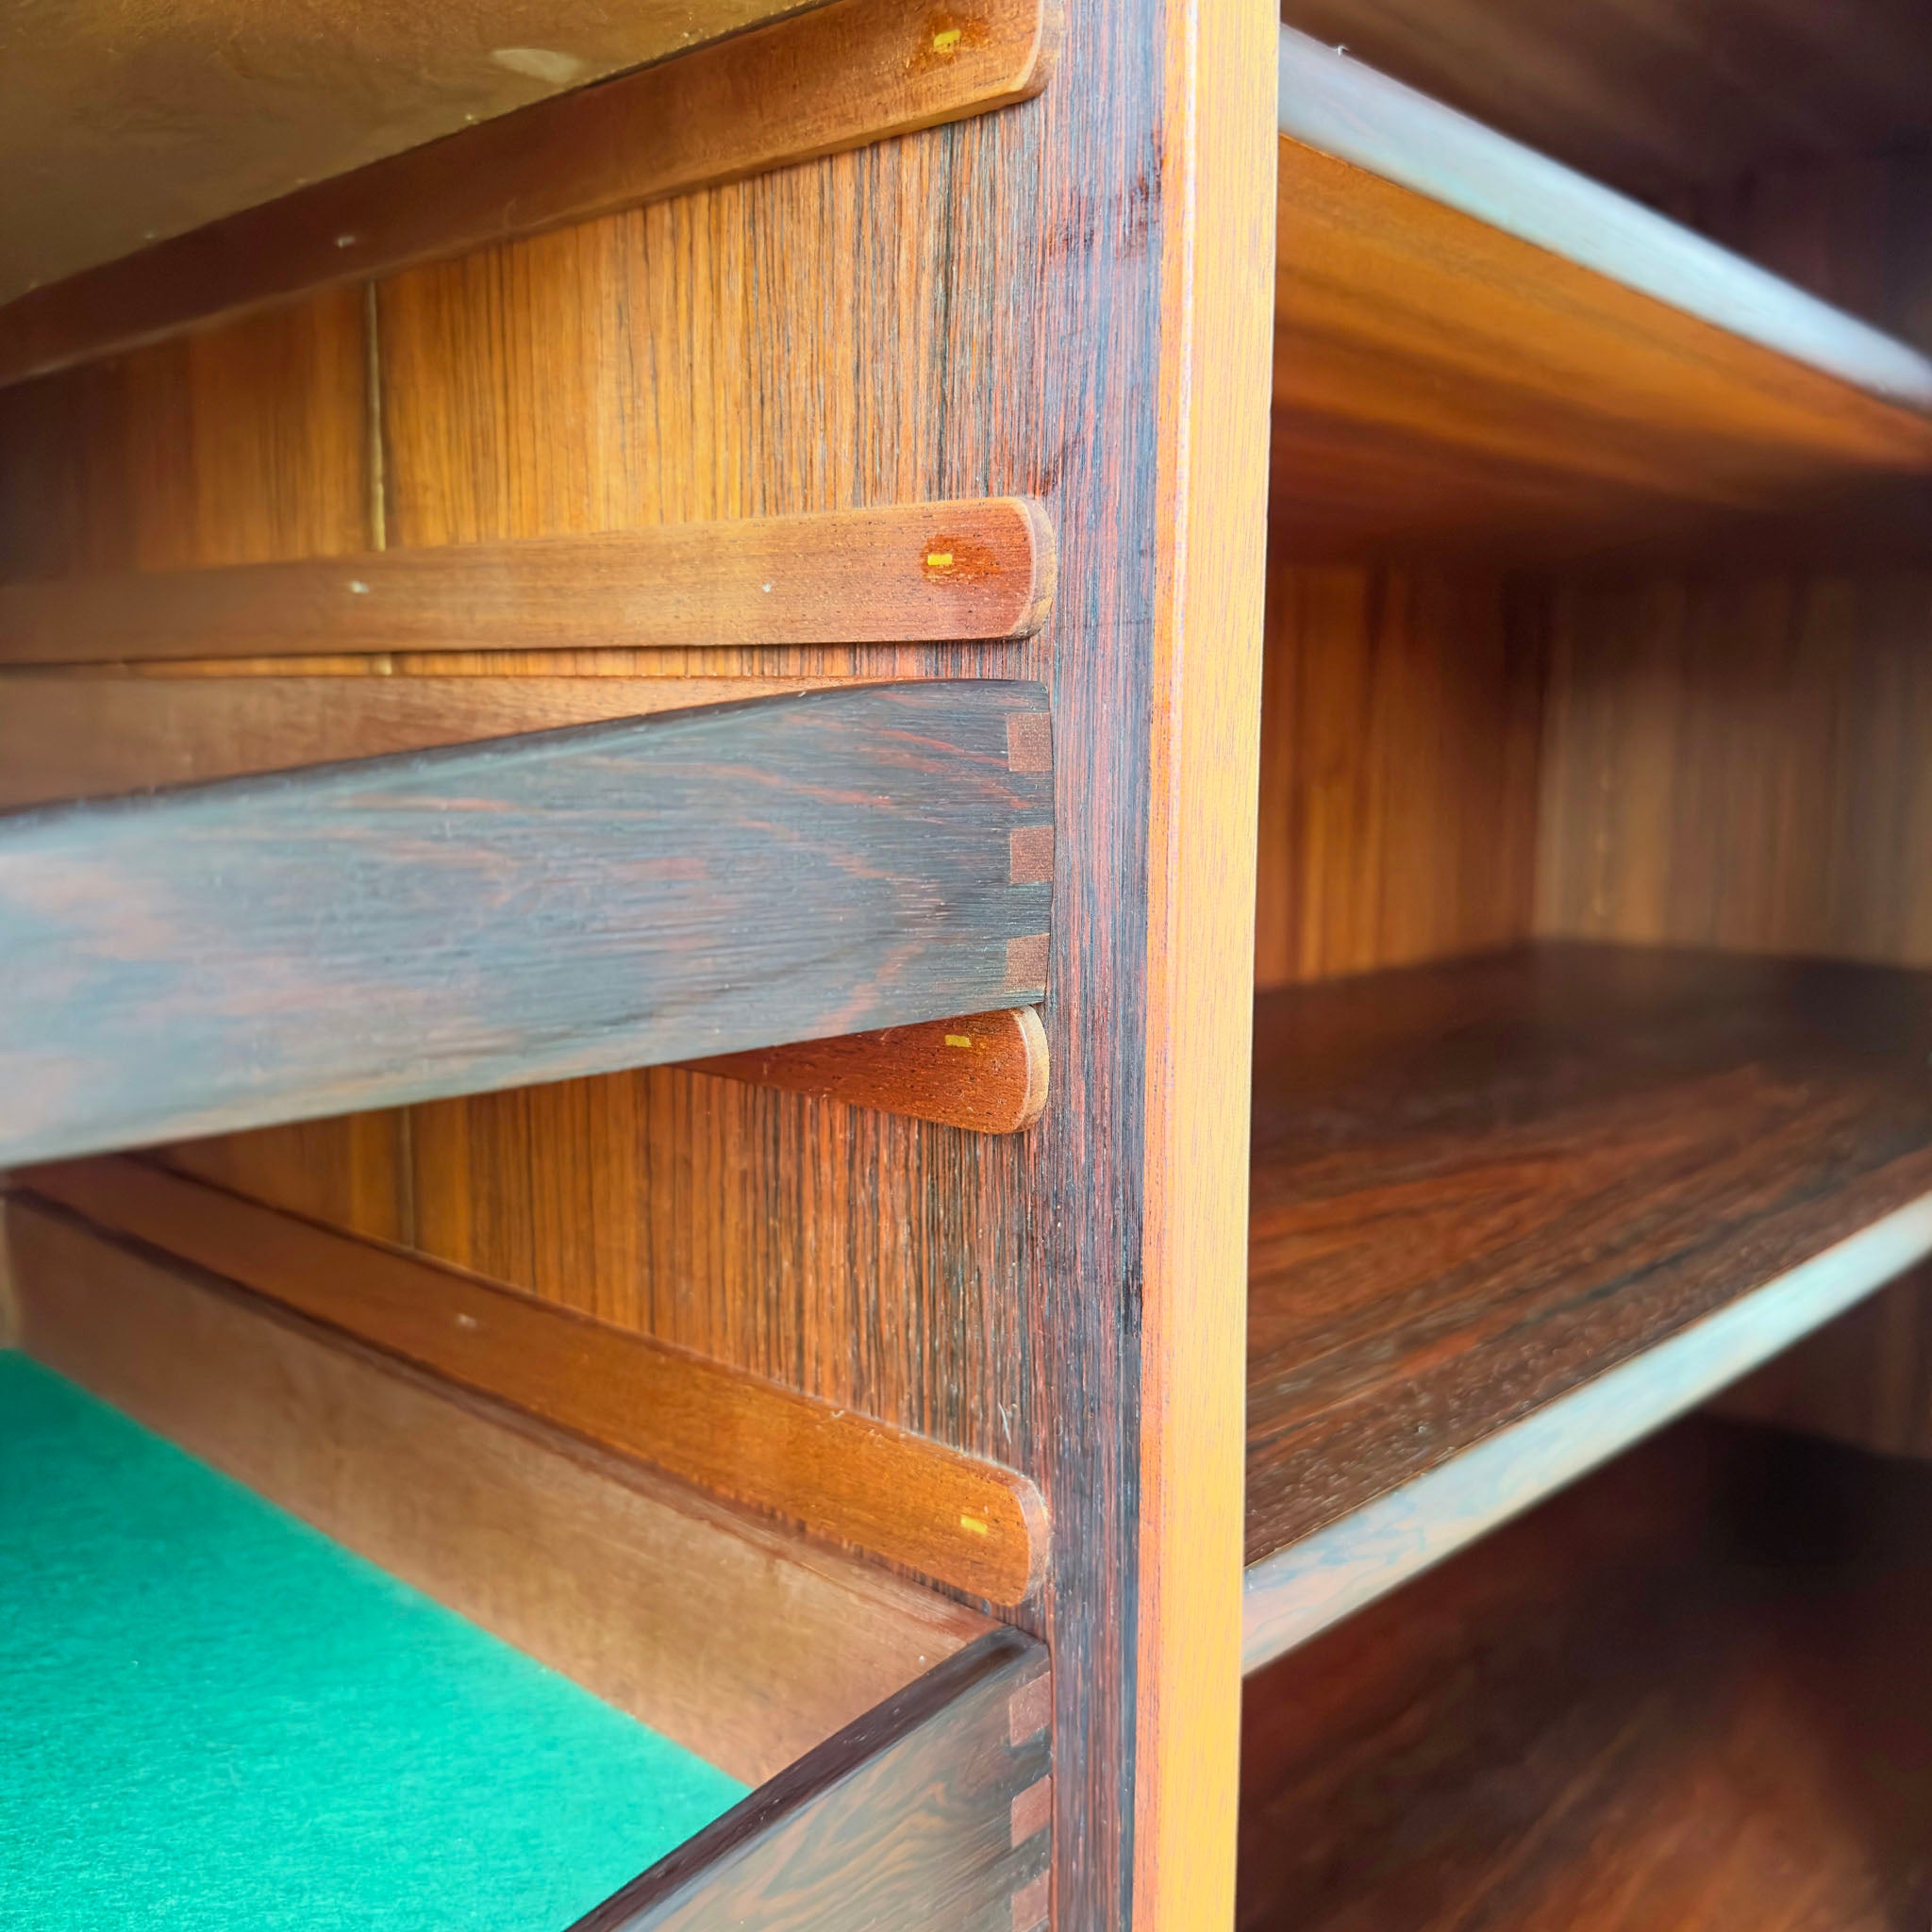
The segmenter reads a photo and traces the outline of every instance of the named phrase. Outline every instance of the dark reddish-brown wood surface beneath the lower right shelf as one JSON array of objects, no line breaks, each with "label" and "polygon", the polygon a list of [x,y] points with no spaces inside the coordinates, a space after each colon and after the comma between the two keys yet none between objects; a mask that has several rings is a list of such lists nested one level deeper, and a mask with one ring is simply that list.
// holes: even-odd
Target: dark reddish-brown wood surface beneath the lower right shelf
[{"label": "dark reddish-brown wood surface beneath the lower right shelf", "polygon": [[1928,1505],[1687,1428],[1250,1679],[1238,1924],[1918,1922]]}]

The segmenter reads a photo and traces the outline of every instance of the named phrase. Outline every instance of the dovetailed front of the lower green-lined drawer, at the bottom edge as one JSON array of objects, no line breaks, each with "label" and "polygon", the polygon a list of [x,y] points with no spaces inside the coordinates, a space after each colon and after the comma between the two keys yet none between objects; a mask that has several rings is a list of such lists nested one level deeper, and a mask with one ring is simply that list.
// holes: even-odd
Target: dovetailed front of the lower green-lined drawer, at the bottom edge
[{"label": "dovetailed front of the lower green-lined drawer, at the bottom edge", "polygon": [[574,1932],[1039,1932],[1045,1652],[995,1631],[705,1826]]}]

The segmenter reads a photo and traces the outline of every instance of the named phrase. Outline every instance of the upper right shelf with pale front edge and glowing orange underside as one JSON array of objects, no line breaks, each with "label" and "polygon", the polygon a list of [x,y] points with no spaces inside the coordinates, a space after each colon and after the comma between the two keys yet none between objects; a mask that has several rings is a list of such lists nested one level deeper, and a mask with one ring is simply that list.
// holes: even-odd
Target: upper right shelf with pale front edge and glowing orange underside
[{"label": "upper right shelf with pale front edge and glowing orange underside", "polygon": [[1586,553],[1932,471],[1932,363],[1281,33],[1273,526]]}]

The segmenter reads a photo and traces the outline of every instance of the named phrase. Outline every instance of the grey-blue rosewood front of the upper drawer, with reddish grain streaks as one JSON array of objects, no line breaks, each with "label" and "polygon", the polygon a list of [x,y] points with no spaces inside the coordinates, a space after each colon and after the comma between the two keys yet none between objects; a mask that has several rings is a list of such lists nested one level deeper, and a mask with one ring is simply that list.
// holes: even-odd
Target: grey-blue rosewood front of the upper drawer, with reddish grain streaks
[{"label": "grey-blue rosewood front of the upper drawer, with reddish grain streaks", "polygon": [[804,692],[17,813],[0,1157],[1034,1003],[1041,709]]}]

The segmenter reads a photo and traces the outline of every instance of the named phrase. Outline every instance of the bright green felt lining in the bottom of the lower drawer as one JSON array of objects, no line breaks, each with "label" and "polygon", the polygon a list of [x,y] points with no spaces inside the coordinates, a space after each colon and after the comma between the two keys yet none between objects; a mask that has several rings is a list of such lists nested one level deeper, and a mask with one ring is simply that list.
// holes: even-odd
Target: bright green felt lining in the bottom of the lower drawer
[{"label": "bright green felt lining in the bottom of the lower drawer", "polygon": [[742,1793],[0,1352],[8,1932],[543,1932]]}]

